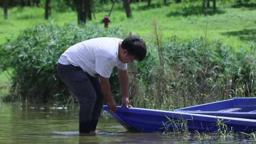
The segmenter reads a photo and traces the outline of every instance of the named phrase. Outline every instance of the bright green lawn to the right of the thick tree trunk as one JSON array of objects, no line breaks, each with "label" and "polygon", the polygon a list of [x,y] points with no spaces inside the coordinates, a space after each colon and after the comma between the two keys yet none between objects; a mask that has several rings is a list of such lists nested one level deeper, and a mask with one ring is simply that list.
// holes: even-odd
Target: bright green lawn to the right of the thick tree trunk
[{"label": "bright green lawn to the right of the thick tree trunk", "polygon": [[[146,3],[132,4],[131,19],[127,19],[124,12],[113,11],[110,25],[123,27],[125,31],[140,34],[151,41],[153,19],[156,19],[162,28],[164,43],[169,42],[173,36],[178,40],[199,38],[205,36],[206,30],[209,40],[220,39],[235,48],[247,47],[248,41],[256,40],[255,8],[232,8],[234,3],[218,2],[216,13],[209,9],[205,13],[210,15],[204,15],[204,12],[200,12],[201,2],[169,6],[161,5],[161,2],[153,1],[152,7],[147,7]],[[116,7],[121,9],[122,6]],[[106,12],[97,15],[102,18]]]}]

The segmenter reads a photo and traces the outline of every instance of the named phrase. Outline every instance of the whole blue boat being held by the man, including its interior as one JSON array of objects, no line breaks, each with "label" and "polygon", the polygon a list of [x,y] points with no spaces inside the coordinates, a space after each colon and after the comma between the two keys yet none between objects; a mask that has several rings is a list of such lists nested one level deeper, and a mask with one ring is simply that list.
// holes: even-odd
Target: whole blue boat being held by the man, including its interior
[{"label": "whole blue boat being held by the man, including its interior", "polygon": [[[103,110],[107,110],[106,105]],[[255,110],[256,98],[234,98],[174,111],[118,107],[117,111],[108,112],[125,129],[134,132],[187,129],[199,132],[222,130],[251,133],[256,132]]]}]

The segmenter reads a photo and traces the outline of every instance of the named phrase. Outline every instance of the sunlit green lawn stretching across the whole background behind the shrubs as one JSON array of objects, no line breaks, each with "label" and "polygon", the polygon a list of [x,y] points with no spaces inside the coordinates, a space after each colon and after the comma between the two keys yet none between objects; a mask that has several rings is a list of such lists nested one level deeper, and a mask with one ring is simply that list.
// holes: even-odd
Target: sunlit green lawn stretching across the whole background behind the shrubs
[{"label": "sunlit green lawn stretching across the whole background behind the shrubs", "polygon": [[[217,12],[211,9],[204,15],[198,11],[200,3],[172,3],[164,6],[162,1],[153,0],[151,7],[146,2],[132,3],[132,18],[126,18],[122,3],[117,3],[110,15],[110,27],[122,27],[125,31],[140,35],[146,41],[152,41],[153,19],[162,28],[163,42],[168,43],[173,36],[183,41],[207,36],[209,40],[220,39],[227,45],[240,49],[248,48],[251,40],[256,41],[256,10],[253,8],[232,8],[234,3],[217,2]],[[96,12],[96,19],[88,24],[101,23],[102,18],[109,12],[111,4],[104,5],[101,12]],[[97,10],[97,9],[96,9]],[[3,9],[0,9],[3,15]],[[0,17],[3,19],[3,17]],[[6,37],[17,35],[20,30],[39,23],[54,20],[57,24],[77,22],[76,12],[58,13],[52,10],[48,21],[44,20],[44,9],[25,7],[9,9],[9,18],[0,22],[0,44]],[[102,24],[103,25],[103,24]]]}]

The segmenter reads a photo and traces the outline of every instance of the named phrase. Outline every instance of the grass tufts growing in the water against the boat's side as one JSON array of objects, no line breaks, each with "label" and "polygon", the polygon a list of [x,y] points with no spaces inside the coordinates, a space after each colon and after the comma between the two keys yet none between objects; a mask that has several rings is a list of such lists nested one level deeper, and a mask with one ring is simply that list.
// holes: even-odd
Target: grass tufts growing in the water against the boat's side
[{"label": "grass tufts growing in the water against the boat's side", "polygon": [[[198,132],[196,130],[188,130],[188,121],[192,119],[182,119],[173,120],[167,117],[168,121],[163,123],[163,128],[165,131],[163,135],[168,138],[180,138],[184,140],[195,140],[195,141],[205,141],[205,140],[237,140],[239,138],[249,139],[252,144],[256,141],[256,132],[251,132],[250,134],[244,132],[234,132],[233,129],[228,129],[228,122],[223,122],[223,119],[217,119],[215,126],[217,126],[218,131],[209,132],[208,130]],[[213,124],[214,125],[214,124]]]}]

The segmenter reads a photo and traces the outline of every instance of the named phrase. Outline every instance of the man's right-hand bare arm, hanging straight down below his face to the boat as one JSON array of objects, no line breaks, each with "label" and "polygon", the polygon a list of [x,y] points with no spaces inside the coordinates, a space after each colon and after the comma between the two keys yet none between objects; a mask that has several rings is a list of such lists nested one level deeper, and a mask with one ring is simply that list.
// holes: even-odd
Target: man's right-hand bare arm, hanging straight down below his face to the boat
[{"label": "man's right-hand bare arm, hanging straight down below his face to the boat", "polygon": [[118,79],[119,79],[119,84],[122,90],[122,105],[121,107],[132,107],[129,105],[129,93],[128,93],[128,85],[129,85],[129,75],[128,71],[126,70],[121,70],[118,68]]}]

